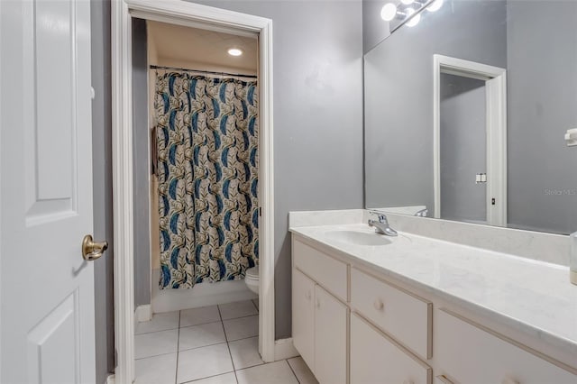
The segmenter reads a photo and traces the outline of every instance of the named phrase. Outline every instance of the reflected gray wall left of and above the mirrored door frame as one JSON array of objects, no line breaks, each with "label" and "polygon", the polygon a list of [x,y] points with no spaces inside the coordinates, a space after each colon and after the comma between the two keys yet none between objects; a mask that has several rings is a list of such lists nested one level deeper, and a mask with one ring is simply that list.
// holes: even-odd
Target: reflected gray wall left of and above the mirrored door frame
[{"label": "reflected gray wall left of and above the mirrored door frame", "polygon": [[501,1],[445,1],[365,55],[367,207],[433,208],[433,55],[505,67],[505,7]]}]

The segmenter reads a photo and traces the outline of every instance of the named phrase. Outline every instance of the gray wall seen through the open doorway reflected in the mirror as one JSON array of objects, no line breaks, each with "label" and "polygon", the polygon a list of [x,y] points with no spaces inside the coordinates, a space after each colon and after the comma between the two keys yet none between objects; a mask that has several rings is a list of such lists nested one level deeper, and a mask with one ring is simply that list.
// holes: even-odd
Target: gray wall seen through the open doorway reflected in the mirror
[{"label": "gray wall seen through the open doorway reflected in the mirror", "polygon": [[441,74],[441,218],[487,221],[487,184],[475,175],[487,172],[485,81]]}]

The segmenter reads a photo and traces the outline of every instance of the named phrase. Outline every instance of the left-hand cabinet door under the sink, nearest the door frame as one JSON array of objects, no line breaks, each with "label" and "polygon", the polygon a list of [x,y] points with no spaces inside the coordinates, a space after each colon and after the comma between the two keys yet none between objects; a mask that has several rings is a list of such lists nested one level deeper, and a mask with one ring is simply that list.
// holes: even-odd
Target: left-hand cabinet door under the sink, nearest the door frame
[{"label": "left-hand cabinet door under the sink, nearest the door frame", "polygon": [[315,367],[315,282],[292,270],[292,340],[307,363]]}]

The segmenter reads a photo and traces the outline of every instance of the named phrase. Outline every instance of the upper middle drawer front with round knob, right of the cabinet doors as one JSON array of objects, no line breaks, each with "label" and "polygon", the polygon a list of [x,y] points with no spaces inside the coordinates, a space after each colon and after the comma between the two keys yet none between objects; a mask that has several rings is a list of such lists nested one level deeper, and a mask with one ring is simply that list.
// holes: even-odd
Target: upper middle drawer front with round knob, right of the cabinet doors
[{"label": "upper middle drawer front with round knob, right of the cabinet doors", "polygon": [[432,303],[353,268],[351,306],[411,351],[432,357]]}]

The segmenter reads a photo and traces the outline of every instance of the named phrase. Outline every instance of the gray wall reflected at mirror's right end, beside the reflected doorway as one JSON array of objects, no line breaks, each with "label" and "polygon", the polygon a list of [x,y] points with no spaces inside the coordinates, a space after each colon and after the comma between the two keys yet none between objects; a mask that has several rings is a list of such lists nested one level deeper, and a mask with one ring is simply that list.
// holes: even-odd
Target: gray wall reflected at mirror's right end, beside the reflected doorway
[{"label": "gray wall reflected at mirror's right end, beside the reflected doorway", "polygon": [[[508,223],[577,231],[577,3],[508,5]],[[530,41],[530,43],[528,43]]]}]

